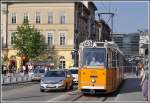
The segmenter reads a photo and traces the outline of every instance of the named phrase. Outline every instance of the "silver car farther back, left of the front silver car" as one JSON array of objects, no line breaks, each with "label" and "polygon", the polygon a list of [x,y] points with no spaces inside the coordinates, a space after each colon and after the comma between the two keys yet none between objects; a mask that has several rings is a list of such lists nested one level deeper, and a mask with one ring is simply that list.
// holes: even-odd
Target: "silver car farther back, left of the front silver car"
[{"label": "silver car farther back, left of the front silver car", "polygon": [[42,77],[44,77],[45,70],[41,68],[34,68],[31,70],[29,75],[32,78],[32,81],[40,81]]}]

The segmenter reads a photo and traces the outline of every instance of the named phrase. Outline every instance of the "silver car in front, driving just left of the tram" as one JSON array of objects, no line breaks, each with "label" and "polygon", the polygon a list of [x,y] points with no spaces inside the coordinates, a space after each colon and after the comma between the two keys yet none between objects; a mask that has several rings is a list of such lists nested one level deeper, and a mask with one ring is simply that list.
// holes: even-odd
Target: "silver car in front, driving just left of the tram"
[{"label": "silver car in front, driving just left of the tram", "polygon": [[73,77],[68,70],[56,69],[48,71],[40,82],[40,91],[73,89]]}]

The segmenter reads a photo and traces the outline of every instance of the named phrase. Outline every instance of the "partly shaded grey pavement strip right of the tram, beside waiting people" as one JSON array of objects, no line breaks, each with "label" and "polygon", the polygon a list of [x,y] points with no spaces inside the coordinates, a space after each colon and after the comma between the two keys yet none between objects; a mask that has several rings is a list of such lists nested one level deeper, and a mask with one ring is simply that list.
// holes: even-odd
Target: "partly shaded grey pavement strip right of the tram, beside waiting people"
[{"label": "partly shaded grey pavement strip right of the tram, beside waiting people", "polygon": [[126,74],[125,82],[121,87],[119,94],[115,101],[143,101],[142,90],[140,87],[140,80],[135,74]]}]

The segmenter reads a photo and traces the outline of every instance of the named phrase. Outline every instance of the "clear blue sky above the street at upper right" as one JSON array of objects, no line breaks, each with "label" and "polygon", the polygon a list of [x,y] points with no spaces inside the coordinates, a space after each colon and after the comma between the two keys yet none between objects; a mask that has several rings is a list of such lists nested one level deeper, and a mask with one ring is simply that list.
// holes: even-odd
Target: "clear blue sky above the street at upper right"
[{"label": "clear blue sky above the street at upper right", "polygon": [[[133,33],[138,29],[148,29],[148,2],[94,2],[97,13],[112,12],[114,15],[113,32]],[[109,17],[103,16],[110,24]]]}]

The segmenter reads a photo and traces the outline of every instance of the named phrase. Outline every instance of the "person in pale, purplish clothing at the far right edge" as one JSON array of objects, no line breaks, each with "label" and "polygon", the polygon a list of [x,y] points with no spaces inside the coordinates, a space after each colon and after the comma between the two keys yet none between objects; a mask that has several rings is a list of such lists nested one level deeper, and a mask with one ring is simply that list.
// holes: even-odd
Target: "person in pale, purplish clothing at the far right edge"
[{"label": "person in pale, purplish clothing at the far right edge", "polygon": [[145,101],[148,101],[148,70],[144,69],[144,64],[139,65],[140,70],[140,86]]}]

